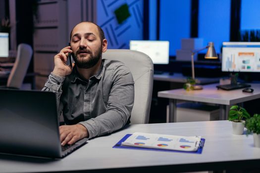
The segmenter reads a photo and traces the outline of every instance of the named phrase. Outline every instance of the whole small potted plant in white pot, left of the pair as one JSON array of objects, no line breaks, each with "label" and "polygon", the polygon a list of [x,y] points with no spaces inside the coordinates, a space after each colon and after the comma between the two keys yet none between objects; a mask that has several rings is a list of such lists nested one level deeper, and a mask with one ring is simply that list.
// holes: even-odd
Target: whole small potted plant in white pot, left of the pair
[{"label": "whole small potted plant in white pot, left of the pair", "polygon": [[243,134],[245,121],[250,118],[249,113],[243,107],[234,105],[230,107],[228,120],[232,122],[233,134]]}]

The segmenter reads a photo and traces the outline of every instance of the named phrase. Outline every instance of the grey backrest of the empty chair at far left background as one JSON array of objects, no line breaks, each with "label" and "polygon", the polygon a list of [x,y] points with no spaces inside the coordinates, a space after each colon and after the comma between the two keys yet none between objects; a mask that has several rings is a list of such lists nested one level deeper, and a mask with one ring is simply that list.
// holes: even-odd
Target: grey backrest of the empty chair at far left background
[{"label": "grey backrest of the empty chair at far left background", "polygon": [[20,43],[17,48],[17,55],[7,80],[6,87],[21,88],[28,66],[33,54],[29,44]]}]

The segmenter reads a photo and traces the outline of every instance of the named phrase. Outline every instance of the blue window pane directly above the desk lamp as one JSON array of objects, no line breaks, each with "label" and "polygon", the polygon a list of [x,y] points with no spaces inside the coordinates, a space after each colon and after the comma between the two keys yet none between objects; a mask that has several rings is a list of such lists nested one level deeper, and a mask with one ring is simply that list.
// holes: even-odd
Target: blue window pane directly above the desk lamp
[{"label": "blue window pane directly above the desk lamp", "polygon": [[222,42],[229,41],[230,4],[230,0],[199,0],[198,37],[204,39],[205,46],[213,42],[217,53]]}]

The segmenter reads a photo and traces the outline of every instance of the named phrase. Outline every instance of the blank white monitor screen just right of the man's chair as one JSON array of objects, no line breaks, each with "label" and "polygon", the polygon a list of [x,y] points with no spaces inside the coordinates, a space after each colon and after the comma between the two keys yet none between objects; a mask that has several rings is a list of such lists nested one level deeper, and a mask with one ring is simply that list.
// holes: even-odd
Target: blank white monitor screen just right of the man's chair
[{"label": "blank white monitor screen just right of the man's chair", "polygon": [[130,41],[130,49],[147,54],[154,64],[169,63],[168,41]]}]

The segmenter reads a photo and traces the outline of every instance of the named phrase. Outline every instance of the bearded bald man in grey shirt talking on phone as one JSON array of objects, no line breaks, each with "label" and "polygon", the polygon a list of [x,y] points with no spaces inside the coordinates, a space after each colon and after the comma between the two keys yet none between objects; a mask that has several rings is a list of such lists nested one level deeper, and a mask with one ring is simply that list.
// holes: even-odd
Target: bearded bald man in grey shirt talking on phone
[{"label": "bearded bald man in grey shirt talking on phone", "polygon": [[[121,62],[102,59],[107,40],[103,30],[92,22],[77,24],[70,45],[54,56],[54,69],[43,90],[55,92],[61,145],[84,137],[111,133],[130,123],[134,103],[134,81]],[[73,54],[72,67],[66,65]]]}]

